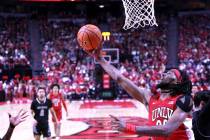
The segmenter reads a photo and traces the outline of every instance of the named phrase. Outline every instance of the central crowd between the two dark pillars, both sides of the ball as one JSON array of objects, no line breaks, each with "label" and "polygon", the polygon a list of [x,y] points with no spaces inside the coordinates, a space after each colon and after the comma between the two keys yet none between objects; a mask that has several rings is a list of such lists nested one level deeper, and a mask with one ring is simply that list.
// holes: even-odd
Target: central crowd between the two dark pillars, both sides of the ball
[{"label": "central crowd between the two dark pillars, both sides of the ball", "polygon": [[[118,27],[118,20],[117,18],[109,20],[108,24],[113,31],[110,40],[105,41],[103,47],[120,50],[120,63],[116,66],[136,84],[145,87],[157,84],[166,63],[164,26],[167,22],[160,24],[158,28],[128,34],[113,28]],[[42,52],[43,67],[48,80],[53,83],[54,80],[59,79],[60,81],[56,82],[66,87],[70,84],[72,86],[67,90],[77,94],[80,94],[81,86],[86,90],[90,89],[90,84],[91,87],[96,87],[94,62],[86,56],[76,42],[79,27],[73,23],[69,25],[66,21],[57,20],[44,22],[41,28],[44,29],[42,40],[45,40]],[[118,89],[120,90],[119,87]],[[87,93],[87,91],[84,92]],[[81,94],[83,95],[83,92]]]}]

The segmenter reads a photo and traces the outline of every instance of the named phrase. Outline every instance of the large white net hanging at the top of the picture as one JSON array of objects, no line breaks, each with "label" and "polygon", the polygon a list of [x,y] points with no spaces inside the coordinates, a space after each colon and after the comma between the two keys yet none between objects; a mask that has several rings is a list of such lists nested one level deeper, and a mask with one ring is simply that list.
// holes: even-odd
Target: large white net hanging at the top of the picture
[{"label": "large white net hanging at the top of the picture", "polygon": [[158,26],[154,12],[154,0],[122,0],[125,8],[123,29]]}]

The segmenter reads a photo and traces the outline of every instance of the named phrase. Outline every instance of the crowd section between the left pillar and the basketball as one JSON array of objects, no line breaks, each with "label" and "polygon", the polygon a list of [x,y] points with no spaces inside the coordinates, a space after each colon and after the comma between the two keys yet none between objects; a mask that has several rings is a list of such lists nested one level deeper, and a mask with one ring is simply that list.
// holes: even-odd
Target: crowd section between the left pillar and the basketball
[{"label": "crowd section between the left pillar and the basketball", "polygon": [[66,21],[43,23],[42,63],[48,83],[59,83],[64,93],[86,98],[86,93],[94,88],[95,65],[77,45],[79,26]]}]

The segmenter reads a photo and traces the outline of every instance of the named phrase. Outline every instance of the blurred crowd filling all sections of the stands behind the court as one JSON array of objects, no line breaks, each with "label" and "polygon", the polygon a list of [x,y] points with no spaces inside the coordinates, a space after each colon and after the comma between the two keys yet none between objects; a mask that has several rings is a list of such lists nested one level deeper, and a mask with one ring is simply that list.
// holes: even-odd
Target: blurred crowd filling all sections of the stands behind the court
[{"label": "blurred crowd filling all sections of the stands behind the court", "polygon": [[[205,15],[180,17],[182,22],[179,28],[179,68],[188,72],[197,90],[210,88],[208,84],[210,27],[207,25],[209,18]],[[168,23],[164,16],[158,19],[161,21],[158,22],[158,27],[132,32],[122,30],[121,18],[110,17],[107,20],[107,26],[112,34],[109,41],[104,41],[103,47],[120,50],[120,62],[115,66],[138,86],[151,88],[156,85],[166,67]],[[197,25],[195,21],[198,19],[200,23],[197,28],[194,28],[195,24]],[[1,65],[5,67],[10,59],[13,60],[12,64],[30,65],[27,54],[30,43],[25,19],[8,18],[1,20],[0,23]],[[7,99],[12,100],[13,96],[33,98],[35,87],[43,83],[47,87],[50,87],[52,83],[58,83],[68,98],[97,99],[97,89],[100,89],[102,85],[95,81],[94,61],[77,44],[76,33],[80,26],[81,24],[76,21],[42,19],[40,42],[43,46],[44,73],[40,77],[20,79],[16,76],[10,81],[1,81],[0,91],[6,92]],[[118,86],[116,86],[116,91],[119,93],[117,98],[127,95]]]}]

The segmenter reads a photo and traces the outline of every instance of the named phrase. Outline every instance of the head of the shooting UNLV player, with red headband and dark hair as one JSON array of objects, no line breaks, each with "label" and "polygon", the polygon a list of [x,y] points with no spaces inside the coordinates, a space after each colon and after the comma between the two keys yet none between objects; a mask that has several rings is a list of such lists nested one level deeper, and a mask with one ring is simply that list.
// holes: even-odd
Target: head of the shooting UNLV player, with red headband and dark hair
[{"label": "head of the shooting UNLV player, with red headband and dark hair", "polygon": [[157,88],[171,95],[191,94],[192,83],[185,71],[173,68],[163,73],[161,82],[157,85]]}]

